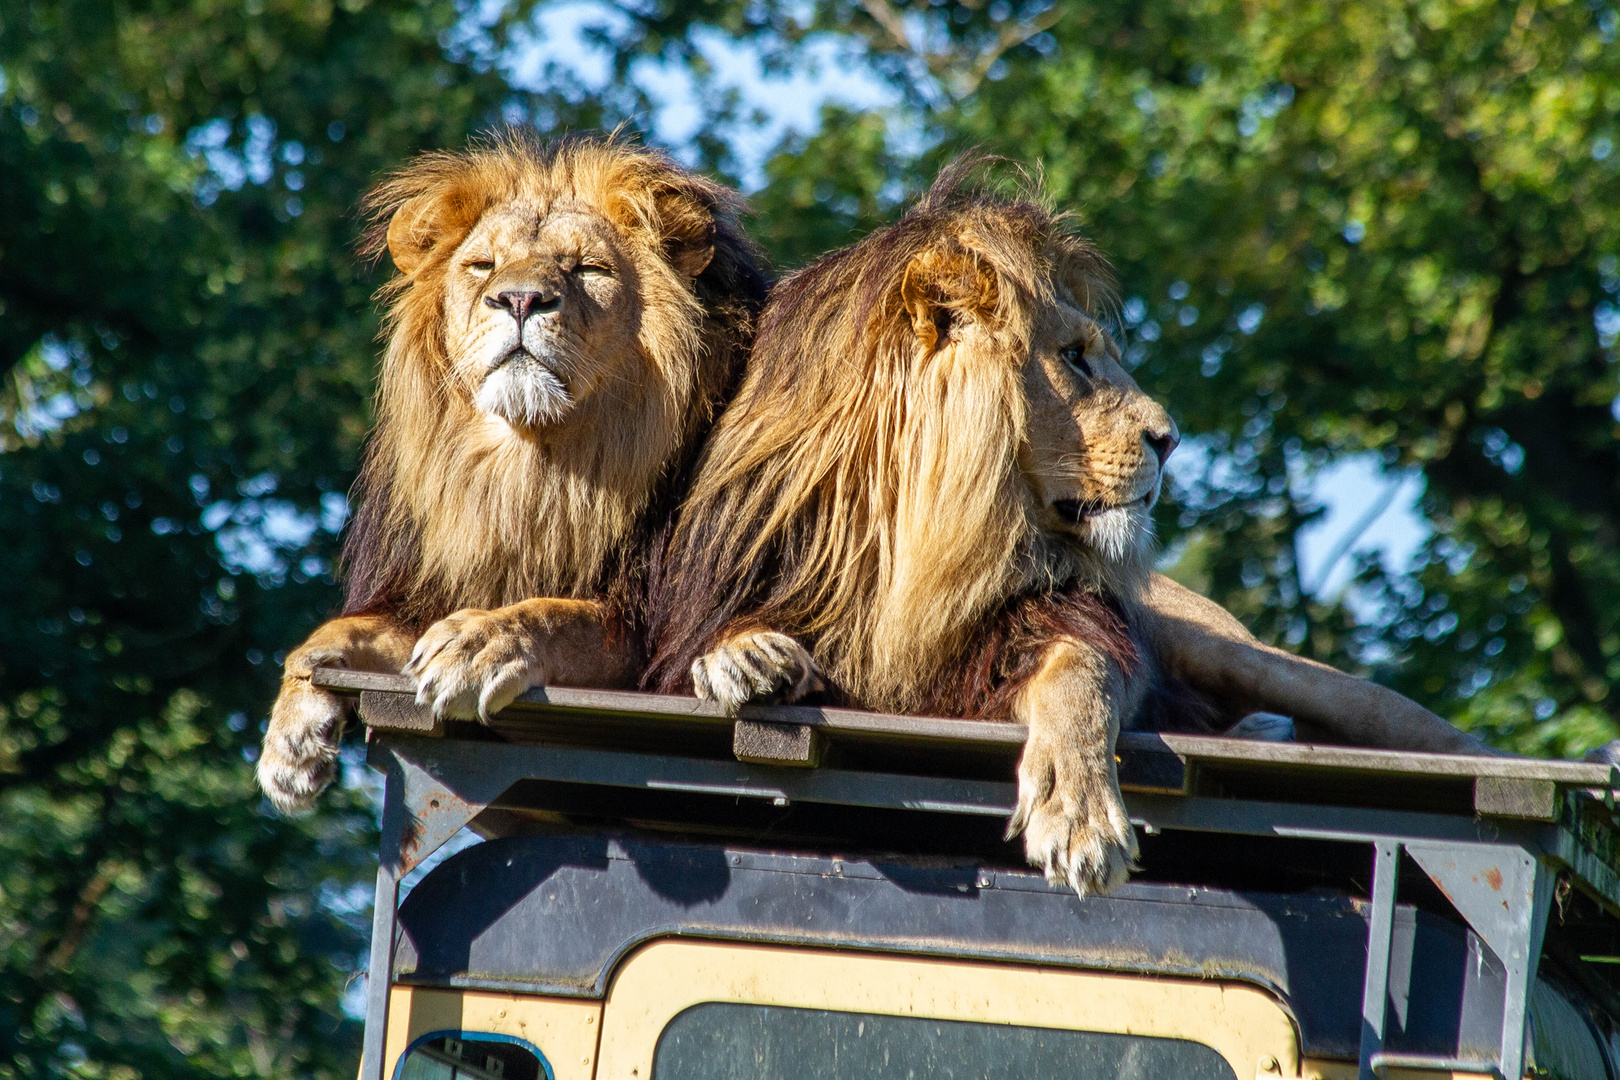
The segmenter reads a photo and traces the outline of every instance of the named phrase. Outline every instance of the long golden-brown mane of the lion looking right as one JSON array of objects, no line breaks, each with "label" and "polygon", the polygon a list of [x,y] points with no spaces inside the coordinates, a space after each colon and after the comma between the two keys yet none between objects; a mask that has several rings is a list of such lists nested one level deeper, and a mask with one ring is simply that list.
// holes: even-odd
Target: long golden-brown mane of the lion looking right
[{"label": "long golden-brown mane of the lion looking right", "polygon": [[[983,651],[1004,659],[1042,622],[1129,662],[1111,597],[1144,567],[1045,534],[1017,460],[1035,317],[1059,288],[1095,311],[1108,266],[1035,199],[969,189],[974,167],[773,291],[654,586],[643,685],[685,688],[750,622],[808,638],[870,708],[993,709],[1013,672]],[[990,343],[930,348],[949,319],[922,319],[917,290],[993,313]],[[956,672],[972,685],[943,693]]]}]

